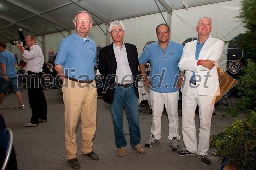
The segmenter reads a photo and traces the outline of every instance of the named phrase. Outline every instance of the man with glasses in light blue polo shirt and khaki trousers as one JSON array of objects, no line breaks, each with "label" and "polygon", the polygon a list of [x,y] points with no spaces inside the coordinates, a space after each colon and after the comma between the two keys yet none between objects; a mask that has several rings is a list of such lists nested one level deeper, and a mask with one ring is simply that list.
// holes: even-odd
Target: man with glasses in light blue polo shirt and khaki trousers
[{"label": "man with glasses in light blue polo shirt and khaki trousers", "polygon": [[96,44],[87,36],[93,25],[92,17],[87,11],[78,11],[73,22],[76,32],[60,42],[55,70],[63,80],[66,157],[70,166],[77,169],[80,167],[76,144],[79,117],[82,126],[82,153],[93,160],[99,159],[92,151],[97,112],[97,89],[94,81]]}]

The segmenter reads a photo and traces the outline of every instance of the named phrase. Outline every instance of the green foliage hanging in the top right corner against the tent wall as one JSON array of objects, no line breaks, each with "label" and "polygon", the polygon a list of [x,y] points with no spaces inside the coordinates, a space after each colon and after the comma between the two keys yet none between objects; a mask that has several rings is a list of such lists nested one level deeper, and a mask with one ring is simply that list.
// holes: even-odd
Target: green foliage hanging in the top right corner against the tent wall
[{"label": "green foliage hanging in the top right corner against the tent wall", "polygon": [[241,39],[235,40],[239,47],[243,49],[244,57],[256,62],[256,0],[242,0],[240,15],[247,31],[244,34],[239,34]]}]

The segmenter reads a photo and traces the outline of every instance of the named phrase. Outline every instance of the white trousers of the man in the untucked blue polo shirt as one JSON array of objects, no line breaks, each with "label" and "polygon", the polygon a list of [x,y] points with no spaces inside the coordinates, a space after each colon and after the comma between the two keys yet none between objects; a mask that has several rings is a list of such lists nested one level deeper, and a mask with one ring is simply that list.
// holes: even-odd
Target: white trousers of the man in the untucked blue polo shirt
[{"label": "white trousers of the man in the untucked blue polo shirt", "polygon": [[173,93],[159,93],[150,90],[150,100],[152,108],[152,125],[151,133],[155,135],[155,139],[161,138],[161,118],[163,114],[163,108],[165,108],[169,119],[169,140],[173,137],[179,136],[179,118],[178,118],[178,100],[179,90]]}]

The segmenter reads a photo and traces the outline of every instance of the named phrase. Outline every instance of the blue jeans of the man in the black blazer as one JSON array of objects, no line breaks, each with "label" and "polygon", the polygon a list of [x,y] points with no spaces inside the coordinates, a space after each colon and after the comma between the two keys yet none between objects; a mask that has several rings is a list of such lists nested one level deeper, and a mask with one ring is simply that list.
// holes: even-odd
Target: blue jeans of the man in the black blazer
[{"label": "blue jeans of the man in the black blazer", "polygon": [[110,104],[114,123],[115,143],[117,148],[126,147],[127,142],[123,132],[123,103],[126,109],[130,133],[131,147],[140,143],[138,99],[133,85],[130,87],[115,87],[115,95]]}]

